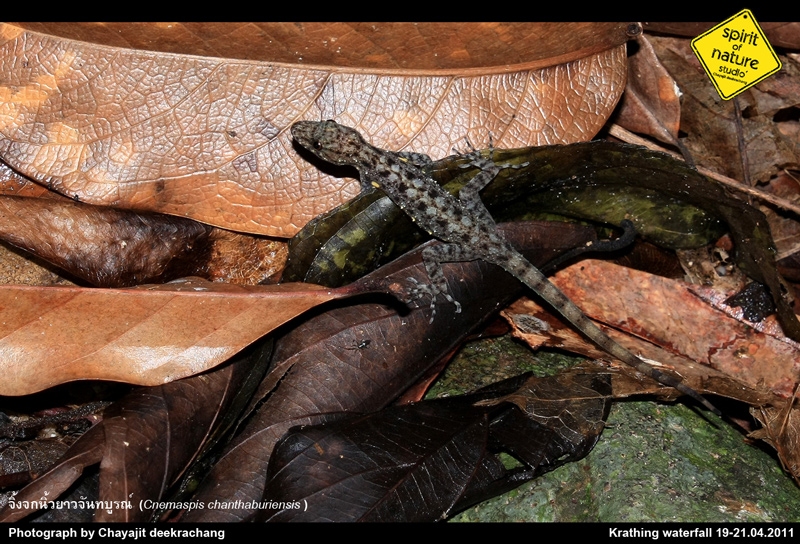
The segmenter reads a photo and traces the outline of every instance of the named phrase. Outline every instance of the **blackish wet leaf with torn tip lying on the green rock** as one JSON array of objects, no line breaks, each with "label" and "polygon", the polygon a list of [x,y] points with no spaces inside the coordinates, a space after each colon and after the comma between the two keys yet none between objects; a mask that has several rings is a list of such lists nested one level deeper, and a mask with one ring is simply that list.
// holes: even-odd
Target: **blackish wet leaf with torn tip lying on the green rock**
[{"label": "blackish wet leaf with torn tip lying on the green rock", "polygon": [[[531,378],[517,389],[519,381],[495,384],[486,393],[341,415],[295,429],[275,448],[264,497],[297,501],[303,508],[276,508],[258,516],[435,521],[591,451],[607,414],[607,373]],[[508,391],[509,382],[516,393],[486,400]],[[527,418],[504,407],[484,408],[522,396],[528,399],[523,403]],[[527,467],[506,470],[492,450],[510,451]]]}]

